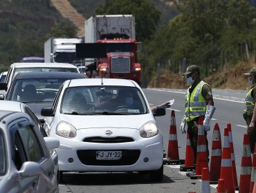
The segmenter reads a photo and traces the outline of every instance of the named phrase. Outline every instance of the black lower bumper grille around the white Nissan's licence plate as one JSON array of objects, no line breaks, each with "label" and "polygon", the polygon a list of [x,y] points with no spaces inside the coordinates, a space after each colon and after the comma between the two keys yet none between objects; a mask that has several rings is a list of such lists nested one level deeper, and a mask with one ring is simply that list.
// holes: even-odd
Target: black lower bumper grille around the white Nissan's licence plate
[{"label": "black lower bumper grille around the white Nissan's licence plate", "polygon": [[140,157],[140,150],[115,150],[122,151],[122,158],[119,160],[97,160],[98,150],[77,150],[78,159],[84,165],[133,165]]}]

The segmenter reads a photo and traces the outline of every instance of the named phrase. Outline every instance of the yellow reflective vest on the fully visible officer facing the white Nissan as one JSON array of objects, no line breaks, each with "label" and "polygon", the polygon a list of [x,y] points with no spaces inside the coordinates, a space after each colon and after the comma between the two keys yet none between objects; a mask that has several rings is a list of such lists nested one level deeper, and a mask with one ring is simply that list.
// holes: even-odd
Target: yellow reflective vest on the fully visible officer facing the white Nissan
[{"label": "yellow reflective vest on the fully visible officer facing the white Nissan", "polygon": [[[208,85],[204,81],[200,81],[192,93],[190,94],[190,88],[187,90],[186,103],[185,103],[185,116],[186,122],[196,119],[198,116],[205,116],[206,112],[206,100],[202,96],[203,85]],[[210,87],[210,86],[209,86]]]}]

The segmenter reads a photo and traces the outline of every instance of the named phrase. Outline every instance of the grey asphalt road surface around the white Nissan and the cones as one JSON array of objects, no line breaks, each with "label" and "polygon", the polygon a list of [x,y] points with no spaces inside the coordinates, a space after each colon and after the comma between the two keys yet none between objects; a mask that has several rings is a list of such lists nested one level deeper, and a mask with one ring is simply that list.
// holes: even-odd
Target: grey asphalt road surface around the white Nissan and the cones
[{"label": "grey asphalt road surface around the white Nissan and the cones", "polygon": [[[167,110],[165,116],[156,117],[156,122],[163,133],[164,150],[167,152],[171,110],[175,112],[176,130],[179,144],[180,159],[185,159],[186,135],[181,134],[179,125],[184,112],[185,90],[171,90],[160,88],[143,89],[150,105],[158,105],[175,99],[174,104]],[[215,123],[219,124],[221,130],[221,141],[223,129],[227,123],[232,127],[232,140],[235,152],[237,179],[241,170],[241,152],[243,136],[246,132],[246,123],[243,119],[244,97],[246,90],[212,90],[214,106],[216,111],[208,132],[209,150],[211,154],[212,130]],[[222,142],[221,142],[222,143]],[[152,183],[147,174],[136,173],[73,173],[65,174],[60,183],[60,192],[201,192],[201,180],[190,179],[186,172],[179,170],[180,165],[164,165],[164,177],[161,183]],[[211,185],[211,192],[216,192],[217,185]]]}]

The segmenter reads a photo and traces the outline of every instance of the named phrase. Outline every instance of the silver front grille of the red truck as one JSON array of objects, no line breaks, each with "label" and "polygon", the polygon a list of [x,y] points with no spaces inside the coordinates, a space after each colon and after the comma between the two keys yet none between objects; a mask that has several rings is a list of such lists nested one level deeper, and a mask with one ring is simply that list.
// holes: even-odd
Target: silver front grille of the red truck
[{"label": "silver front grille of the red truck", "polygon": [[129,57],[111,57],[111,73],[130,73]]}]

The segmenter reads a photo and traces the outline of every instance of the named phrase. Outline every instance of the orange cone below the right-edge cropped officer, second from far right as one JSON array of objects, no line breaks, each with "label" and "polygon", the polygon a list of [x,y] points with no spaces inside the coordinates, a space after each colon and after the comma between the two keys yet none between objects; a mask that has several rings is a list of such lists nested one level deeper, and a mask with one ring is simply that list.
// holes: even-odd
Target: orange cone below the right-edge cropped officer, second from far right
[{"label": "orange cone below the right-edge cropped officer, second from far right", "polygon": [[243,154],[241,156],[241,172],[239,181],[239,193],[250,191],[250,174],[252,173],[252,158],[250,156],[249,135],[244,134]]}]

